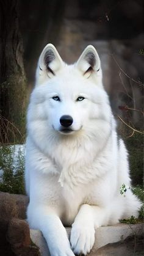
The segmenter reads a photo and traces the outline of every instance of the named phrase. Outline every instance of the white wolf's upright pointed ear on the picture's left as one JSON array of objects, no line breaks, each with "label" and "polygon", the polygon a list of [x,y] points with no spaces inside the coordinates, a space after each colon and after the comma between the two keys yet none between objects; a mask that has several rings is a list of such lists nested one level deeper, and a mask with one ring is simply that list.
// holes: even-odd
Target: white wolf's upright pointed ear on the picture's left
[{"label": "white wolf's upright pointed ear on the picture's left", "polygon": [[45,46],[38,60],[39,74],[45,72],[49,78],[55,76],[57,71],[63,66],[63,61],[57,52],[57,49],[51,43]]}]

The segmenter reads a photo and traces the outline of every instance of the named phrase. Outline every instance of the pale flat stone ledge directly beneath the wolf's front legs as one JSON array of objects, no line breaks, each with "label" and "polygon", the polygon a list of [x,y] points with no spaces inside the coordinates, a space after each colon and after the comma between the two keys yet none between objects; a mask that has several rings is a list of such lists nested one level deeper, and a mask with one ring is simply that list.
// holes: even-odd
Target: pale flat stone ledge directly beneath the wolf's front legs
[{"label": "pale flat stone ledge directly beneath the wolf's front legs", "polygon": [[[66,228],[70,238],[70,228]],[[31,239],[40,247],[42,256],[50,256],[45,238],[40,230],[31,230]],[[143,251],[143,224],[117,224],[96,229],[95,244],[91,256],[126,256],[142,255]],[[137,252],[137,254],[136,254]]]}]

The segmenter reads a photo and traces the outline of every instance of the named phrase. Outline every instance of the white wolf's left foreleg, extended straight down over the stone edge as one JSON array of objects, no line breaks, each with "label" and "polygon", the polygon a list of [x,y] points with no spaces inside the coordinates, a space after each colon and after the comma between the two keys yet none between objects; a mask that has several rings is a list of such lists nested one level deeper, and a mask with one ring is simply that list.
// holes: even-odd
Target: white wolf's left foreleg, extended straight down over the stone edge
[{"label": "white wolf's left foreleg, extended straight down over the stone edge", "polygon": [[59,216],[48,207],[29,207],[28,221],[33,229],[40,229],[45,237],[51,256],[74,256],[67,232]]}]

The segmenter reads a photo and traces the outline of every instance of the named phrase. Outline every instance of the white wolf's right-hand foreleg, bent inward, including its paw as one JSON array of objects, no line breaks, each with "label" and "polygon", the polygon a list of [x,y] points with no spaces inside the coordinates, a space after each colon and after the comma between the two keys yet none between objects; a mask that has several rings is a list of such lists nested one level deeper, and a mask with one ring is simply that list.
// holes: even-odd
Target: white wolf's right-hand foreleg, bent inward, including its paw
[{"label": "white wolf's right-hand foreleg, bent inward, including its paw", "polygon": [[82,205],[71,229],[71,248],[75,254],[87,254],[95,242],[95,228],[107,223],[109,210]]}]

